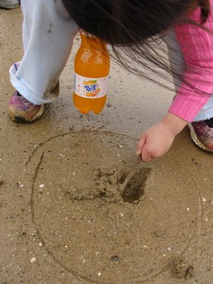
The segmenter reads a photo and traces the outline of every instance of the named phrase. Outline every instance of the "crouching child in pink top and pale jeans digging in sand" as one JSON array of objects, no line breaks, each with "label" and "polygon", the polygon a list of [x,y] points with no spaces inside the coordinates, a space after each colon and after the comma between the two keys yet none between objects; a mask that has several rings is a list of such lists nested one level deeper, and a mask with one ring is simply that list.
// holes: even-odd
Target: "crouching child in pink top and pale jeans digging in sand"
[{"label": "crouching child in pink top and pale jeans digging in sand", "polygon": [[[125,58],[120,58],[120,62],[127,67],[131,60],[143,64],[145,58],[170,70],[150,52],[150,48],[155,51],[151,38],[167,34],[164,38],[173,65],[170,72],[180,87],[164,119],[142,134],[137,154],[145,162],[161,157],[187,123],[193,141],[213,151],[213,100],[207,95],[213,92],[208,0],[22,0],[21,5],[25,54],[10,70],[16,88],[9,102],[11,119],[38,119],[43,104],[57,98],[58,79],[79,28],[97,35],[115,50],[116,45],[124,46],[130,59],[125,63]],[[116,55],[119,57],[117,50]],[[129,69],[137,72],[132,65]],[[182,82],[177,82],[178,78]]]}]

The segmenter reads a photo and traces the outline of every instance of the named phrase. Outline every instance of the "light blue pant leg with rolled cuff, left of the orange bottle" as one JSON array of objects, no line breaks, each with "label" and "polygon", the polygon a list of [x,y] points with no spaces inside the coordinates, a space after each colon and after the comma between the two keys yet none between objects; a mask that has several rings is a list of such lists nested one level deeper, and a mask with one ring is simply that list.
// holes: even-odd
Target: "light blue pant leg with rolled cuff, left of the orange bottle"
[{"label": "light blue pant leg with rolled cuff, left of the orange bottle", "polygon": [[13,87],[33,104],[53,102],[53,93],[77,33],[62,0],[21,0],[23,48],[21,62],[11,67]]}]

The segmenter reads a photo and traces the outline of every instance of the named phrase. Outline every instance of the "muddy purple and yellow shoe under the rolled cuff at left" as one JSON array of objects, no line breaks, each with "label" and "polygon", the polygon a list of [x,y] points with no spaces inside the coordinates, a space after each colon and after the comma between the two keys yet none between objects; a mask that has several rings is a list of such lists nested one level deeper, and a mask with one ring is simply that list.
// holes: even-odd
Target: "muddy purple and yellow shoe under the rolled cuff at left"
[{"label": "muddy purple and yellow shoe under the rolled cuff at left", "polygon": [[32,122],[43,114],[44,106],[28,102],[17,91],[9,100],[9,116],[12,121]]}]

